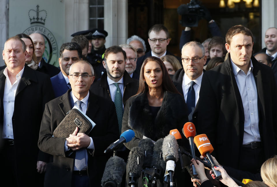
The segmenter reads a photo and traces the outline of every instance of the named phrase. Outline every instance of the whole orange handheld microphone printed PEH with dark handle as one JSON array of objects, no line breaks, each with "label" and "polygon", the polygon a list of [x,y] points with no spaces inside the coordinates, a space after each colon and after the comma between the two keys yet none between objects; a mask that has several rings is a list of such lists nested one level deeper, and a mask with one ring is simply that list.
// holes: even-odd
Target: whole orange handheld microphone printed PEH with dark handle
[{"label": "whole orange handheld microphone printed PEH with dark handle", "polygon": [[209,141],[207,135],[200,134],[198,136],[195,136],[194,142],[195,142],[196,147],[198,148],[200,154],[203,157],[207,156],[208,160],[210,161],[210,163],[212,165],[212,171],[216,177],[216,180],[218,181],[221,177],[221,173],[220,173],[220,171],[217,171],[214,169],[214,167],[217,165],[214,164],[214,160],[212,159],[212,156],[210,154],[214,151],[214,148],[213,148],[211,142]]}]

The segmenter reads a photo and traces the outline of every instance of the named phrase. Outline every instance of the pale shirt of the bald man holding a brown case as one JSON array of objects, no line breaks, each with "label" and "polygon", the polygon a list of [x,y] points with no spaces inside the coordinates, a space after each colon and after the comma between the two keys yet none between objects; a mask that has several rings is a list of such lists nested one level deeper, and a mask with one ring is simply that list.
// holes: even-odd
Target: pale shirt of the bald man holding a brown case
[{"label": "pale shirt of the bald man holding a brown case", "polygon": [[[79,100],[74,96],[74,94],[72,93],[72,91],[70,92],[70,95],[71,95],[72,98],[73,98],[74,106],[76,106],[77,108],[79,108],[78,105],[77,105],[77,103],[76,103],[76,101],[79,101]],[[87,112],[87,103],[88,103],[88,99],[89,99],[89,92],[87,93],[87,96],[86,96],[84,99],[81,100],[81,101],[83,102],[83,103],[81,103],[81,108],[82,108],[82,111],[83,111],[85,114],[86,114],[86,112]],[[89,147],[87,147],[87,149],[92,149],[92,150],[94,150],[93,140],[92,140],[91,137],[89,137],[89,138],[90,138],[90,144],[89,144]],[[66,144],[67,144],[67,140],[65,140],[64,149],[65,149],[65,151],[68,151],[69,148],[67,147]],[[88,155],[87,155],[87,151],[86,151],[86,166],[83,168],[83,170],[84,170],[84,169],[87,169],[87,159],[88,159]],[[78,169],[76,168],[75,165],[74,165],[73,170],[74,170],[74,171],[78,171]]]}]

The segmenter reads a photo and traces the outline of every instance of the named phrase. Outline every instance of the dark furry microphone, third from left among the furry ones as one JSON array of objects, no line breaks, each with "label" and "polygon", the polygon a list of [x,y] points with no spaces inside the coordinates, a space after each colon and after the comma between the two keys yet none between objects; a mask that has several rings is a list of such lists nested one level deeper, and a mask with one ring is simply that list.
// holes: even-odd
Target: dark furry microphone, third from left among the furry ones
[{"label": "dark furry microphone, third from left among the furry ones", "polygon": [[152,177],[155,175],[155,169],[151,167],[151,162],[153,158],[153,149],[154,149],[154,143],[150,138],[141,139],[139,141],[139,147],[143,150],[145,153],[145,158],[143,162],[143,180],[146,180],[146,185],[149,181],[152,180]]}]

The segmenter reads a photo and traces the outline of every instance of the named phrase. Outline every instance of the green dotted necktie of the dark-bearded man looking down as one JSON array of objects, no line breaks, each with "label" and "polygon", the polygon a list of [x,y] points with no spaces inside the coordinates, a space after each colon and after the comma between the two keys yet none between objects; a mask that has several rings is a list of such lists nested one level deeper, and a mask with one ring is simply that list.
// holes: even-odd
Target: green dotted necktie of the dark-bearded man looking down
[{"label": "green dotted necktie of the dark-bearded man looking down", "polygon": [[121,128],[122,128],[122,118],[123,118],[123,105],[122,105],[122,94],[121,90],[118,86],[118,83],[114,83],[116,86],[115,90],[115,110],[118,120],[118,127],[119,127],[119,134],[121,134]]}]

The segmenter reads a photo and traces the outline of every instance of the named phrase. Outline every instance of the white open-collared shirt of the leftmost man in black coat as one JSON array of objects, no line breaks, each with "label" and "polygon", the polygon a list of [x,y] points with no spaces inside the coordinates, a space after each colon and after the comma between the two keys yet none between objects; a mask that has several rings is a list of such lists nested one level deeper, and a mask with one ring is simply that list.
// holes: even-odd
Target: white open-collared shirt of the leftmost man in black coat
[{"label": "white open-collared shirt of the leftmost man in black coat", "polygon": [[24,68],[16,75],[16,81],[12,85],[10,78],[8,76],[7,67],[4,69],[3,74],[6,76],[4,97],[3,97],[3,108],[4,108],[4,119],[3,119],[3,133],[2,138],[14,139],[14,133],[12,129],[12,116],[14,113],[14,100],[15,93],[17,90],[18,83],[22,77]]}]

